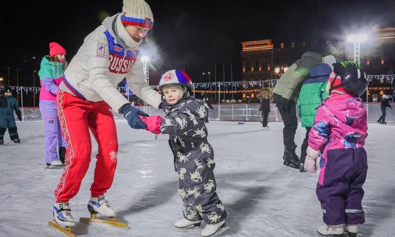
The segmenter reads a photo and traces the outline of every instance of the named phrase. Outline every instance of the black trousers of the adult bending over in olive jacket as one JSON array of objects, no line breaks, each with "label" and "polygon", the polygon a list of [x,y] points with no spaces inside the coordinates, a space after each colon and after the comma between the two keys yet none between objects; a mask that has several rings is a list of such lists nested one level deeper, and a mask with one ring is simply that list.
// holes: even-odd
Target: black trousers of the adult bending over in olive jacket
[{"label": "black trousers of the adult bending over in olive jacket", "polygon": [[[276,107],[278,109],[278,102],[280,101],[281,96],[277,94],[273,94],[276,101]],[[284,146],[292,146],[295,145],[295,133],[298,128],[298,118],[296,117],[296,104],[292,100],[289,100],[289,105],[287,110],[280,111],[281,118],[284,121],[284,128],[282,129],[282,136],[284,139]]]}]

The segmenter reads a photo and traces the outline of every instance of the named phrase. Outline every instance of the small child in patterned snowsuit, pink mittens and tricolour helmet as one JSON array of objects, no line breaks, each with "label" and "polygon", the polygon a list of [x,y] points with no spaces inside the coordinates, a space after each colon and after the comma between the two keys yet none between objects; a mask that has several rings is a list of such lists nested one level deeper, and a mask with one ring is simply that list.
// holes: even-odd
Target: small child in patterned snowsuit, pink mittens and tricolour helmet
[{"label": "small child in patterned snowsuit, pink mittens and tricolour helmet", "polygon": [[159,89],[166,101],[166,115],[143,118],[147,130],[169,134],[169,145],[178,172],[178,194],[184,202],[184,218],[175,222],[177,228],[207,224],[201,235],[214,235],[225,226],[227,212],[219,199],[214,177],[214,151],[207,141],[208,106],[191,96],[192,81],[179,70],[163,74]]}]

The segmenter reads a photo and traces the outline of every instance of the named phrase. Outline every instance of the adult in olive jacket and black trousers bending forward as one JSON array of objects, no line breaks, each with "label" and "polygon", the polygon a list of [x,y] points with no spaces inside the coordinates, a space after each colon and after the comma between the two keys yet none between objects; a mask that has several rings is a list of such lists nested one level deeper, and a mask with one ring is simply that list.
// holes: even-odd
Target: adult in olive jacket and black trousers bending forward
[{"label": "adult in olive jacket and black trousers bending forward", "polygon": [[299,169],[300,158],[296,155],[295,133],[298,127],[296,117],[296,101],[299,91],[305,80],[309,79],[310,69],[321,63],[332,65],[336,60],[332,55],[321,57],[315,52],[305,52],[302,58],[295,61],[291,67],[278,80],[273,96],[276,107],[284,121],[283,142],[284,142],[284,165]]}]

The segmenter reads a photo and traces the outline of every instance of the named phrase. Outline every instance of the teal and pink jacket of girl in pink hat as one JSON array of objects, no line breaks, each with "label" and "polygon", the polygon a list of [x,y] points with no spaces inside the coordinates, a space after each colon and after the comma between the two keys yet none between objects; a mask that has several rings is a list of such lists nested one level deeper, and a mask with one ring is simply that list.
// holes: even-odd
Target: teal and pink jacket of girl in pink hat
[{"label": "teal and pink jacket of girl in pink hat", "polygon": [[40,64],[40,100],[56,101],[56,93],[64,75],[63,63],[49,61],[49,56],[44,56]]}]

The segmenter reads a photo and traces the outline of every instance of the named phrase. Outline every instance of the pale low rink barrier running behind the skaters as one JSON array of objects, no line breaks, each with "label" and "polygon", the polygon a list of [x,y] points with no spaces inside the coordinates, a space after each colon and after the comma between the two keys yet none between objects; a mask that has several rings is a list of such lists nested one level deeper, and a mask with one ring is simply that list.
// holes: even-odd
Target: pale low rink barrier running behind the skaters
[{"label": "pale low rink barrier running behind the skaters", "polygon": [[[395,103],[390,103],[393,107]],[[380,103],[364,103],[366,111],[368,113],[368,121],[376,122],[381,116],[381,106]],[[260,104],[212,104],[214,110],[208,110],[209,120],[219,120],[219,121],[244,121],[251,117],[251,115],[257,111]],[[137,106],[142,111],[149,115],[160,115],[163,116],[164,112],[162,110],[155,109],[151,106]],[[271,110],[269,113],[268,120],[271,121],[282,121],[278,110],[276,109],[276,104],[270,105]],[[22,120],[23,121],[36,121],[42,120],[40,109],[38,107],[23,107],[22,110]],[[124,119],[121,114],[114,113],[114,118]],[[16,116],[15,116],[16,118]],[[256,113],[249,121],[260,121],[261,113]],[[300,120],[298,118],[298,120]],[[395,122],[395,111],[387,108],[387,122]]]}]

